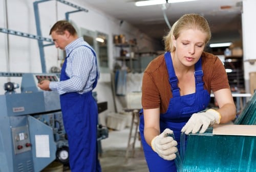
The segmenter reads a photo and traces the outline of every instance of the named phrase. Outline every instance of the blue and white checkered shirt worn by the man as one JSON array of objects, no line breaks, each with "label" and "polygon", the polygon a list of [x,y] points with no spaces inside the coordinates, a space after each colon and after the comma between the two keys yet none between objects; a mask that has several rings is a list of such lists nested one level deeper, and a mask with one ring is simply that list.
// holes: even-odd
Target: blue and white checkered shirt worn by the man
[{"label": "blue and white checkered shirt worn by the man", "polygon": [[[77,92],[83,94],[93,89],[99,70],[91,47],[82,37],[74,40],[65,47],[67,57],[66,74],[70,78],[66,81],[50,82],[50,89],[59,94]],[[97,78],[97,79],[98,79]]]}]

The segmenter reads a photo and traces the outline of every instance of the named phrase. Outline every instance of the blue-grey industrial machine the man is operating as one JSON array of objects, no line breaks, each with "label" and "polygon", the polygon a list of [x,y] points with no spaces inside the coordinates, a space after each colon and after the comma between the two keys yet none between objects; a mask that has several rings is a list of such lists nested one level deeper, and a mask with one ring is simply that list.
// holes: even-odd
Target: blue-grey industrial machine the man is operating
[{"label": "blue-grey industrial machine the man is operating", "polygon": [[[0,95],[0,172],[39,172],[54,160],[69,162],[59,95],[37,87],[41,79],[58,81],[54,73],[22,73],[18,84],[4,85]],[[105,106],[105,104],[104,104]],[[102,110],[101,110],[102,111]],[[98,140],[108,137],[99,125]]]}]

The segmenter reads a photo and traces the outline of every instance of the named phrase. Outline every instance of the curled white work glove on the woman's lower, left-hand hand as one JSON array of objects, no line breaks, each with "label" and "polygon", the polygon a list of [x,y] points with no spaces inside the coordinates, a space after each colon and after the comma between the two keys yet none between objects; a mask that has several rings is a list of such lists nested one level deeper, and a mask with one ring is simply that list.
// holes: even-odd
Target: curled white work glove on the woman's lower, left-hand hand
[{"label": "curled white work glove on the woman's lower, left-hand hand", "polygon": [[178,151],[176,145],[178,143],[173,137],[166,136],[166,134],[173,134],[173,131],[165,129],[160,135],[152,139],[151,147],[163,159],[173,160],[176,158],[175,153]]}]

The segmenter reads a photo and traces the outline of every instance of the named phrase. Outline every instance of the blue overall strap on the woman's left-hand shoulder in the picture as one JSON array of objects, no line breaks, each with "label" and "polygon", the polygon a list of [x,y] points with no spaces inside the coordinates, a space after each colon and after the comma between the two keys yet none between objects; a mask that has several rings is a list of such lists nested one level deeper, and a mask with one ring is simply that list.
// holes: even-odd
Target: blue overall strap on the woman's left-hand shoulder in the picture
[{"label": "blue overall strap on the woman's left-hand shoulder in the picture", "polygon": [[170,52],[165,52],[164,60],[166,63],[169,83],[172,89],[173,97],[180,96],[180,88],[178,87],[178,78],[175,75],[174,66]]}]

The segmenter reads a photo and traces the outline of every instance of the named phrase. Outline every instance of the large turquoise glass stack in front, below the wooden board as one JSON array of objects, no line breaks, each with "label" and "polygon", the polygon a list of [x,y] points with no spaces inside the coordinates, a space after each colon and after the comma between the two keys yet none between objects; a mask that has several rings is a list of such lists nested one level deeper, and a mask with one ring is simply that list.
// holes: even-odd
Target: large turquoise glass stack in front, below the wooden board
[{"label": "large turquoise glass stack in front, below the wooden board", "polygon": [[178,172],[255,172],[256,137],[190,134],[180,157]]}]

